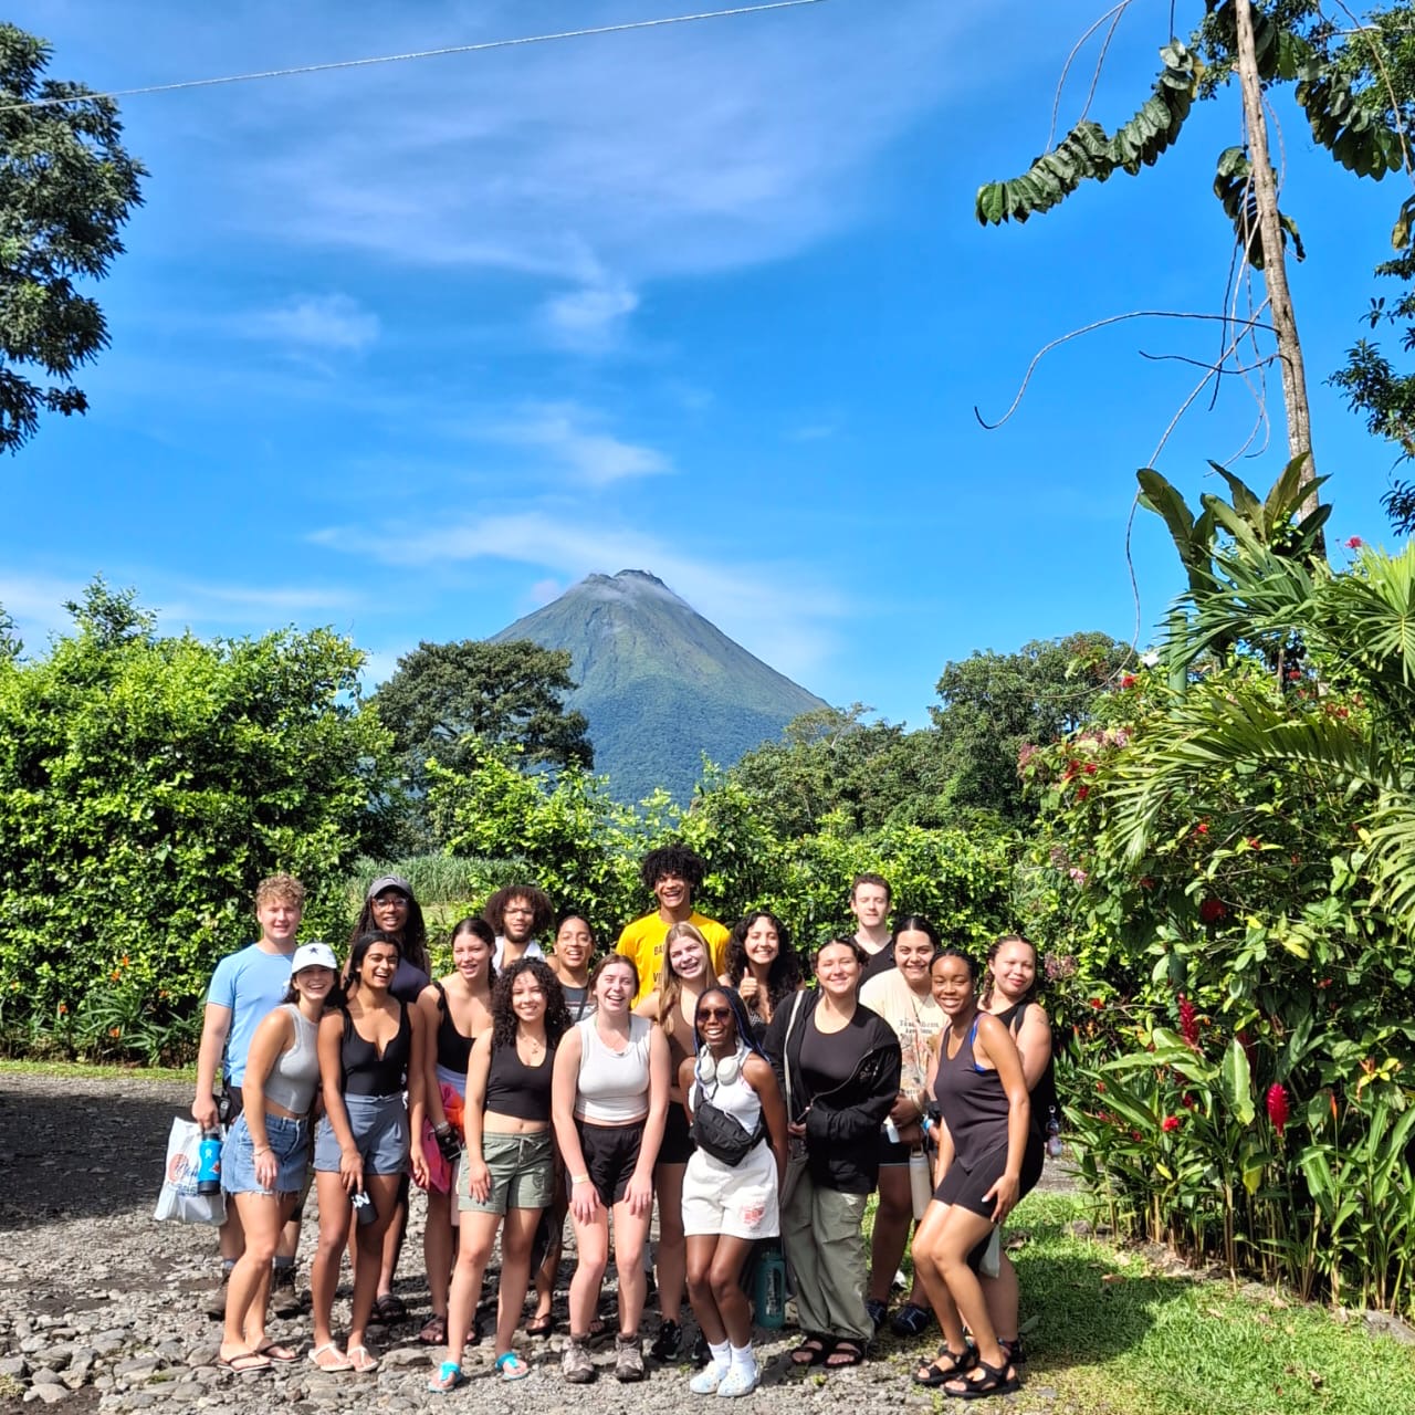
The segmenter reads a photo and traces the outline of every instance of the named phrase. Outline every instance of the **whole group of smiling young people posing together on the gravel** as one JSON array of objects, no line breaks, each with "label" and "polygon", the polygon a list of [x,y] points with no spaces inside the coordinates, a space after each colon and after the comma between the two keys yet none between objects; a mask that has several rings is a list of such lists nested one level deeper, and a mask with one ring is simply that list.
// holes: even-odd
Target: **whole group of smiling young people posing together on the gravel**
[{"label": "whole group of smiling young people posing together on the gravel", "polygon": [[[937,1322],[940,1354],[916,1381],[959,1397],[1017,1388],[1017,1282],[998,1228],[1036,1183],[1054,1119],[1036,951],[1000,940],[979,978],[928,920],[890,928],[887,882],[862,874],[849,899],[856,932],[815,949],[808,986],[771,911],[729,932],[693,908],[703,863],[692,850],[654,850],[641,873],[655,908],[597,964],[584,918],[556,923],[541,889],[515,884],[456,925],[453,969],[436,981],[406,880],[374,880],[342,964],[327,944],[296,945],[299,882],[262,883],[259,941],[212,978],[192,1105],[204,1126],[216,1122],[219,1067],[222,1365],[299,1358],[266,1336],[266,1313],[299,1310],[293,1261],[313,1162],[307,1358],[324,1371],[375,1370],[368,1327],[406,1316],[393,1276],[416,1184],[432,1298],[420,1337],[446,1348],[432,1391],[466,1381],[498,1237],[492,1370],[507,1381],[529,1373],[515,1336],[532,1290],[525,1333],[555,1327],[566,1218],[577,1252],[569,1382],[597,1377],[590,1343],[610,1334],[608,1320],[614,1375],[644,1378],[651,1254],[651,1354],[686,1354],[686,1298],[700,1333],[691,1390],[749,1394],[760,1368],[743,1275],[778,1240],[801,1326],[794,1365],[857,1365],[882,1323],[923,1336]],[[911,1228],[914,1286],[890,1316]],[[345,1249],[354,1290],[340,1341]],[[611,1252],[617,1310],[606,1320]]]}]

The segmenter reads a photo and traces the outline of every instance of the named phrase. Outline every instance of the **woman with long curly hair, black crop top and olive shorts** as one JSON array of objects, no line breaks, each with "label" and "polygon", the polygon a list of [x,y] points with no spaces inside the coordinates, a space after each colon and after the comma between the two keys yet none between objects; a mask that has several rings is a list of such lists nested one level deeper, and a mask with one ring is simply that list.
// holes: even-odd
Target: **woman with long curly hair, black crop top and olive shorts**
[{"label": "woman with long curly hair, black crop top and olive shorts", "polygon": [[492,1030],[467,1063],[467,1149],[457,1176],[457,1265],[447,1303],[447,1358],[427,1382],[458,1387],[461,1353],[481,1292],[481,1278],[501,1230],[494,1368],[505,1381],[531,1374],[511,1347],[531,1283],[531,1245],[555,1189],[550,1073],[555,1049],[570,1027],[565,993],[539,958],[521,958],[498,979]]}]

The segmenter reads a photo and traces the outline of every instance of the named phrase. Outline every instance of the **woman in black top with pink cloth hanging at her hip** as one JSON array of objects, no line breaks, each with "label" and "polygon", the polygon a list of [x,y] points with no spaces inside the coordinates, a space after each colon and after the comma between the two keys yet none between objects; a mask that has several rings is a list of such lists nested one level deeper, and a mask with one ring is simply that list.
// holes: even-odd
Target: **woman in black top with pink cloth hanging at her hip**
[{"label": "woman in black top with pink cloth hanging at her hip", "polygon": [[[483,918],[464,918],[451,931],[453,971],[423,989],[423,1085],[427,1119],[423,1155],[427,1159],[427,1223],[423,1262],[433,1315],[417,1333],[427,1346],[447,1340],[447,1286],[451,1282],[453,1165],[461,1152],[463,1097],[467,1058],[477,1037],[491,1030],[491,985],[495,938]],[[463,1333],[464,1336],[467,1333]]]}]

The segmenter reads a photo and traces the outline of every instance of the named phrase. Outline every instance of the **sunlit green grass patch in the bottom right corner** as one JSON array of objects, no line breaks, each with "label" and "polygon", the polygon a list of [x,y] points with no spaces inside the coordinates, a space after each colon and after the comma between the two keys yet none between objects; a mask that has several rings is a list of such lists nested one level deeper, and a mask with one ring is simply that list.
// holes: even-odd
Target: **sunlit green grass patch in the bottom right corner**
[{"label": "sunlit green grass patch in the bottom right corner", "polygon": [[1024,1377],[1054,1409],[1102,1415],[1408,1415],[1415,1360],[1361,1322],[1254,1299],[1225,1282],[1156,1271],[1140,1255],[1070,1232],[1084,1199],[1033,1194],[1016,1230]]}]

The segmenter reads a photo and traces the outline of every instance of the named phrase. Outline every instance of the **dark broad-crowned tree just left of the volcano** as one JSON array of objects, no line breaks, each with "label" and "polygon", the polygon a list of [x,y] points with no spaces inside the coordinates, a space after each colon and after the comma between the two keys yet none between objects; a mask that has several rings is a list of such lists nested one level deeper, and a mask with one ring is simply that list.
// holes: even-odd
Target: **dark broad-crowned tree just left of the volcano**
[{"label": "dark broad-crowned tree just left of the volcano", "polygon": [[565,710],[574,686],[565,649],[466,638],[419,644],[374,702],[405,758],[409,785],[422,794],[429,757],[470,770],[485,744],[518,747],[528,767],[593,767],[589,723]]}]

